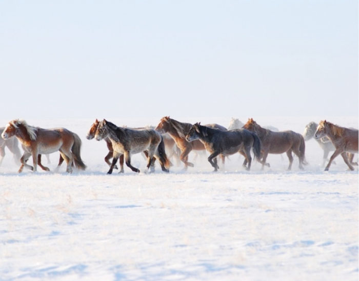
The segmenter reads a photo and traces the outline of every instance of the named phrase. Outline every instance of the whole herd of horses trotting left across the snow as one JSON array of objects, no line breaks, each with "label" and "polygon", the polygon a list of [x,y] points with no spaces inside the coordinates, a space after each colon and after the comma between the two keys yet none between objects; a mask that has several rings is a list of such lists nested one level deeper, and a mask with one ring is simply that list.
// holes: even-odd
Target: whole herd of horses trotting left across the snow
[{"label": "whole herd of horses trotting left across the snow", "polygon": [[[15,119],[5,127],[0,128],[0,164],[5,156],[5,147],[19,160],[19,170],[22,172],[24,166],[36,171],[37,165],[43,170],[50,171],[41,161],[42,155],[48,155],[59,151],[60,157],[56,170],[65,160],[66,171],[72,172],[75,166],[79,170],[85,170],[86,165],[81,158],[81,139],[79,136],[66,128],[44,129],[34,127],[25,120]],[[250,170],[252,163],[251,151],[254,159],[265,166],[268,154],[286,153],[289,159],[288,170],[291,170],[294,153],[299,159],[299,168],[303,169],[308,164],[305,159],[305,141],[314,138],[323,148],[323,165],[327,161],[329,152],[334,151],[329,159],[325,171],[329,170],[334,158],[342,155],[350,170],[354,170],[354,153],[358,153],[358,130],[334,125],[326,120],[319,124],[310,122],[304,130],[304,134],[298,134],[292,130],[279,132],[275,127],[264,127],[257,124],[252,118],[243,124],[240,120],[232,118],[228,129],[218,124],[201,125],[201,123],[183,123],[170,118],[163,117],[156,127],[128,128],[118,127],[115,124],[97,119],[91,125],[86,136],[87,139],[105,140],[108,154],[106,163],[110,166],[108,174],[113,169],[118,169],[116,163],[119,160],[119,172],[124,172],[124,162],[133,172],[139,172],[138,168],[132,166],[131,156],[143,153],[147,161],[147,169],[154,171],[157,160],[162,171],[169,172],[172,165],[170,159],[182,161],[184,169],[194,164],[188,161],[191,151],[209,152],[208,161],[217,171],[217,157],[222,162],[229,155],[240,153],[245,160],[243,166]],[[23,148],[23,155],[18,147],[18,141]],[[30,156],[33,166],[27,164]],[[112,158],[112,161],[110,161]]]}]

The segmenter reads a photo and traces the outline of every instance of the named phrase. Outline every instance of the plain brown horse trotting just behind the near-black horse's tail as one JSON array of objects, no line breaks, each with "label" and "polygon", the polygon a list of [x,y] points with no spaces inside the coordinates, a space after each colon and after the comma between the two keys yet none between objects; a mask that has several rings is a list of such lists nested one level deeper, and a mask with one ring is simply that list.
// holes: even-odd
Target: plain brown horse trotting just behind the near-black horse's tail
[{"label": "plain brown horse trotting just behind the near-black horse's tail", "polygon": [[293,163],[292,152],[299,158],[299,168],[303,169],[305,161],[305,142],[301,134],[295,133],[292,130],[286,130],[282,132],[272,132],[269,129],[262,128],[258,125],[253,118],[248,119],[243,128],[250,130],[257,134],[261,140],[262,145],[262,169],[266,163],[268,153],[282,154],[287,153],[289,159],[288,170],[291,170]]}]

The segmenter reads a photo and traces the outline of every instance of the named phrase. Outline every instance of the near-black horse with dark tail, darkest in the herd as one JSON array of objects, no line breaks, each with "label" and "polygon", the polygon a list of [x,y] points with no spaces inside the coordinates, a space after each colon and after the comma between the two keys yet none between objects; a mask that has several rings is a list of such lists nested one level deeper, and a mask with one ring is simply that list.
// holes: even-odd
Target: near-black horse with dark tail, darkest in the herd
[{"label": "near-black horse with dark tail, darkest in the herd", "polygon": [[189,130],[186,140],[191,142],[200,140],[207,151],[211,154],[208,157],[209,163],[214,167],[214,172],[219,168],[217,165],[217,156],[228,156],[234,153],[241,153],[248,162],[247,170],[250,170],[252,157],[251,148],[253,147],[254,156],[261,158],[261,141],[252,132],[246,129],[234,129],[222,131],[201,126],[201,123],[195,123]]}]

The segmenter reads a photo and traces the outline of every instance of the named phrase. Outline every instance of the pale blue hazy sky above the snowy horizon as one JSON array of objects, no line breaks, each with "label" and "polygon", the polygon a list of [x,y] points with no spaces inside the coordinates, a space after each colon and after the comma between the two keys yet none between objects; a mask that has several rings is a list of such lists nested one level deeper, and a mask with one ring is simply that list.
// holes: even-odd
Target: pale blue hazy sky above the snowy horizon
[{"label": "pale blue hazy sky above the snowy horizon", "polygon": [[1,1],[2,119],[357,116],[357,1]]}]

